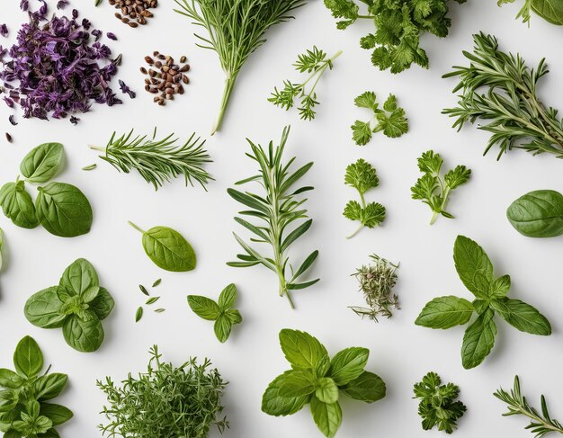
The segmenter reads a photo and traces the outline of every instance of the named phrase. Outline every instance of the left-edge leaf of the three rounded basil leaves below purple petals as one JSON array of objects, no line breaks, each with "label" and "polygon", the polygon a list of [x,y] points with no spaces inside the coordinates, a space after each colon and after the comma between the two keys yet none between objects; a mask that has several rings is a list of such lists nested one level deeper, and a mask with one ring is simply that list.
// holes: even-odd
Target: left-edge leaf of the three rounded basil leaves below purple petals
[{"label": "left-edge leaf of the three rounded basil leaves below purple petals", "polygon": [[35,206],[30,193],[25,190],[25,183],[6,183],[0,189],[0,206],[4,216],[11,219],[13,225],[21,228],[35,228],[39,225]]}]

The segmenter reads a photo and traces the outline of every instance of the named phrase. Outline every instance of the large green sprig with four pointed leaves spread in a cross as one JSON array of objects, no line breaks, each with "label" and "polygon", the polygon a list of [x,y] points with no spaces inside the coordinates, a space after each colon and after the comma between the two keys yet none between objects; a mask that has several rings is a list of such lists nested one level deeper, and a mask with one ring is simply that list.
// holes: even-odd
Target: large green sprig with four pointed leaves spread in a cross
[{"label": "large green sprig with four pointed leaves spread in a cross", "polygon": [[550,321],[536,308],[506,297],[510,276],[495,277],[493,264],[476,242],[458,236],[453,246],[453,261],[461,282],[475,299],[473,302],[454,296],[433,299],[416,318],[416,325],[446,329],[468,324],[472,315],[477,314],[463,336],[461,362],[464,368],[475,368],[493,349],[496,314],[521,332],[551,335]]}]

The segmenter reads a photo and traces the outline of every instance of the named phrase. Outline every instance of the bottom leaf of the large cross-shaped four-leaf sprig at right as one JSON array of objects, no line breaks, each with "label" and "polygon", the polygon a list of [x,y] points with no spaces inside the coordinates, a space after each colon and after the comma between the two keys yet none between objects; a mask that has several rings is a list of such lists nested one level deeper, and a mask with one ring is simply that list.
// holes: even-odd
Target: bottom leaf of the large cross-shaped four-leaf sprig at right
[{"label": "bottom leaf of the large cross-shaped four-leaf sprig at right", "polygon": [[495,312],[490,308],[471,324],[463,336],[461,346],[461,362],[463,368],[475,368],[485,360],[495,346],[496,324]]}]

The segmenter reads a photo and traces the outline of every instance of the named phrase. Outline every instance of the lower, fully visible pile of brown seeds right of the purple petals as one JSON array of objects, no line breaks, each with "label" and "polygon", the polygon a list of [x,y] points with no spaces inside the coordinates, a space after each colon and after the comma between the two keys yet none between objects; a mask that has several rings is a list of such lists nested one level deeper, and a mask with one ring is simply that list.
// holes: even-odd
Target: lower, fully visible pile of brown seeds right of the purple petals
[{"label": "lower, fully visible pile of brown seeds right of the purple petals", "polygon": [[140,67],[140,72],[148,76],[145,78],[145,90],[157,94],[155,103],[165,105],[167,100],[174,100],[175,94],[183,94],[183,85],[190,83],[186,75],[190,70],[186,57],[180,58],[180,64],[176,64],[174,58],[155,51],[152,57],[146,56],[145,61],[148,68]]}]

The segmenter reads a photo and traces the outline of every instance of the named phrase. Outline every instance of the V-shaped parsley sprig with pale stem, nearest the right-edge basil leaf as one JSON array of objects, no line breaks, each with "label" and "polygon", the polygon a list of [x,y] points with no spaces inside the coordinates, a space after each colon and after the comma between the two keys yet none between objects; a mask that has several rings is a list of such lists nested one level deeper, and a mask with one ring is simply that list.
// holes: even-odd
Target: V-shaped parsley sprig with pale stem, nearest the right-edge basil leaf
[{"label": "V-shaped parsley sprig with pale stem, nearest the right-edge basil leaf", "polygon": [[434,153],[433,150],[424,152],[418,158],[418,168],[424,175],[418,178],[416,184],[410,188],[412,198],[423,201],[433,211],[430,225],[434,223],[438,215],[453,219],[451,213],[445,210],[451,191],[461,184],[467,183],[471,176],[471,169],[465,165],[457,165],[455,169],[451,169],[442,177],[440,175],[442,164],[440,154]]}]

